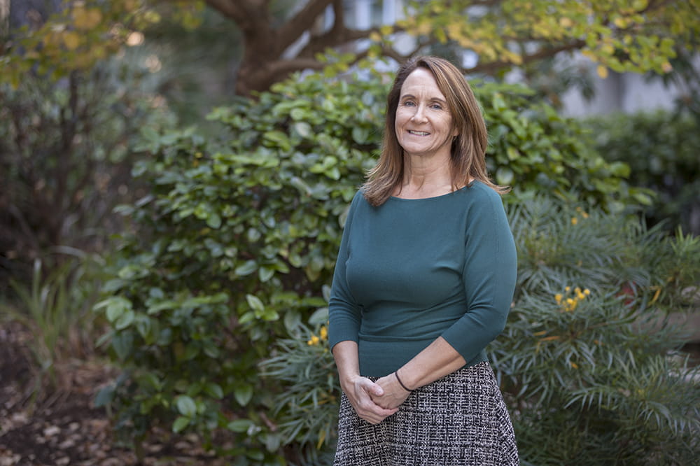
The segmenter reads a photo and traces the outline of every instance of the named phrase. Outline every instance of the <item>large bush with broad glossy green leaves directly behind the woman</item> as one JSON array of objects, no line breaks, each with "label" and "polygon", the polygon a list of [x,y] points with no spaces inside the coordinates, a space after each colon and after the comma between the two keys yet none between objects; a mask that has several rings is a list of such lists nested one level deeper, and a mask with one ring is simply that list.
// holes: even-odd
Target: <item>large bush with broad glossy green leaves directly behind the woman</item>
[{"label": "large bush with broad glossy green leaves directly behind the woman", "polygon": [[[295,455],[274,411],[286,387],[262,378],[258,363],[325,306],[344,214],[377,155],[385,94],[377,78],[297,76],[211,113],[222,141],[144,129],[140,149],[152,157],[134,176],[151,193],[119,208],[139,231],[122,237],[98,306],[125,369],[99,400],[115,404],[125,432],[138,439],[160,422],[228,430],[235,446],[221,454],[241,464]],[[640,195],[621,190],[623,164],[605,164],[575,122],[526,90],[477,94],[500,182],[575,190],[610,209]]]}]

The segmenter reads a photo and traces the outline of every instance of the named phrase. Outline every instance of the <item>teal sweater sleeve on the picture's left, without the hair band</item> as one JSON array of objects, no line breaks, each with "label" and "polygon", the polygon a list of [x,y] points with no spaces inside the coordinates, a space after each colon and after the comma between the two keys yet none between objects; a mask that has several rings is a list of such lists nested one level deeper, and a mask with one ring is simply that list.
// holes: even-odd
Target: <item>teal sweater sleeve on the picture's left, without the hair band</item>
[{"label": "teal sweater sleeve on the picture's left, without the hair band", "polygon": [[356,205],[362,197],[358,192],[353,198],[345,221],[335,271],[328,300],[328,344],[333,346],[340,341],[358,341],[362,310],[350,292],[346,279],[346,262],[350,257],[350,235]]}]

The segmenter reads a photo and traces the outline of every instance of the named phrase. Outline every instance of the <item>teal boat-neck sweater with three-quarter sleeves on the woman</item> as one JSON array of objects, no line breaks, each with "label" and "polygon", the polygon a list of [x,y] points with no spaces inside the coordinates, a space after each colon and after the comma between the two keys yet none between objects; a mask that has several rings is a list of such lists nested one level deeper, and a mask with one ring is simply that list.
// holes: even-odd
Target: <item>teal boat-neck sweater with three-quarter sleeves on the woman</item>
[{"label": "teal boat-neck sweater with three-quarter sleeves on the woman", "polygon": [[360,374],[391,374],[442,336],[467,365],[503,332],[516,253],[503,203],[484,183],[427,199],[358,192],[329,302],[328,340],[358,344]]}]

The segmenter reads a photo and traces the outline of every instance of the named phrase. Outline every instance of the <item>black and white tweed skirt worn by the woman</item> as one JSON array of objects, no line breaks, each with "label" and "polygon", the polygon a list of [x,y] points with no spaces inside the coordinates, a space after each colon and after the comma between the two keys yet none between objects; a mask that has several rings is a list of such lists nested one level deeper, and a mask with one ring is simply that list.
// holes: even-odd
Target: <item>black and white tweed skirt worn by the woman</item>
[{"label": "black and white tweed skirt worn by the woman", "polygon": [[510,416],[488,362],[418,388],[372,425],[343,394],[334,466],[519,465]]}]

